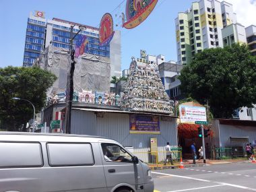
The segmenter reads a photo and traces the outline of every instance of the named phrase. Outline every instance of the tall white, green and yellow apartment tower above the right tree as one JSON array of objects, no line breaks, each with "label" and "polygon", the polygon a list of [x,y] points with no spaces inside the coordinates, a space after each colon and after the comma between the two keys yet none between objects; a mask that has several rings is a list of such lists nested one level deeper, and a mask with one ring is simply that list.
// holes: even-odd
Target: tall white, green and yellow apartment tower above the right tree
[{"label": "tall white, green and yellow apartment tower above the right tree", "polygon": [[223,46],[222,28],[236,24],[230,3],[217,0],[193,2],[190,9],[175,19],[177,63],[191,63],[195,53]]}]

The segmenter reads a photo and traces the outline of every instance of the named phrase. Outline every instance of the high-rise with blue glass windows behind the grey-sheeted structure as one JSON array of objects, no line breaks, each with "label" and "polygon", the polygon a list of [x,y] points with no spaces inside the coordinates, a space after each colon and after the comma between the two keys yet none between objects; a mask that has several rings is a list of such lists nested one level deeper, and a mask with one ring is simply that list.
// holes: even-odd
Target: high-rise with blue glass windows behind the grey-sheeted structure
[{"label": "high-rise with blue glass windows behind the grey-sheeted structure", "polygon": [[[30,13],[28,18],[28,27],[26,31],[26,44],[24,51],[24,67],[31,67],[36,58],[39,57],[42,49],[52,44],[56,47],[69,49],[70,28],[73,28],[73,36],[79,30],[78,26],[85,26],[84,24],[77,24],[53,18],[47,20],[44,18],[44,13],[36,11],[35,15]],[[99,46],[99,29],[92,26],[86,26],[85,31],[79,32],[88,36],[88,50],[86,53],[98,55],[101,57],[110,58],[110,77],[121,76],[121,32],[115,31],[113,40],[106,46]],[[75,48],[76,36],[73,40],[73,49]]]}]

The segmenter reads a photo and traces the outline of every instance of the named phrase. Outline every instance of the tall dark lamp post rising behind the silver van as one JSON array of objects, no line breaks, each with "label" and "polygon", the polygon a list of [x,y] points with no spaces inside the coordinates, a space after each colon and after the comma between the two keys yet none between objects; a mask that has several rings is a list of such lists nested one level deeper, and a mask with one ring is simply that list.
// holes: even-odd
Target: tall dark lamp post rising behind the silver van
[{"label": "tall dark lamp post rising behind the silver van", "polygon": [[66,133],[71,133],[71,110],[73,100],[73,73],[75,71],[75,51],[73,50],[73,39],[79,32],[86,30],[86,26],[79,26],[79,31],[73,36],[73,28],[75,25],[70,27],[70,38],[69,38],[69,54],[71,65],[69,73],[67,74],[67,90],[66,90],[66,110],[65,110],[65,129]]}]

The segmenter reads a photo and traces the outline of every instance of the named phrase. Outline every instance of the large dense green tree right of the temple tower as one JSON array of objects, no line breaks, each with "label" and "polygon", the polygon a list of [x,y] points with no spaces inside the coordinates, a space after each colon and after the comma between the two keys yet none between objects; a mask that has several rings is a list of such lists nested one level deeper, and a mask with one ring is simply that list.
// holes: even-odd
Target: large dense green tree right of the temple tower
[{"label": "large dense green tree right of the temple tower", "polygon": [[216,118],[230,118],[237,108],[256,103],[256,57],[247,46],[205,49],[183,67],[181,91],[208,104]]}]

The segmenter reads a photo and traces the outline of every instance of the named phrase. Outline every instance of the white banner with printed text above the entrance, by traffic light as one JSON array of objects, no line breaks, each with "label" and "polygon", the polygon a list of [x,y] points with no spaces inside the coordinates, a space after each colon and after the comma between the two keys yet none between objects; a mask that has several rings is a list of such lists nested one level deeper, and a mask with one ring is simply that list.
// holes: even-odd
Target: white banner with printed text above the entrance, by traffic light
[{"label": "white banner with printed text above the entrance, by traffic light", "polygon": [[195,124],[195,121],[207,121],[205,107],[201,106],[179,106],[181,123]]}]

